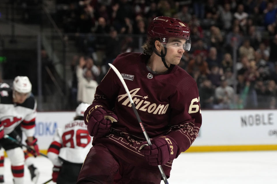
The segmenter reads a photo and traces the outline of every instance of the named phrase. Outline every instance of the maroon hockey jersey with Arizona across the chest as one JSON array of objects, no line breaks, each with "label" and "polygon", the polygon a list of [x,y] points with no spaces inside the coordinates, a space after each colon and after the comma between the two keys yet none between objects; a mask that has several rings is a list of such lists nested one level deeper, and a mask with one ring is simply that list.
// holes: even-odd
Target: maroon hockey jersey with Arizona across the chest
[{"label": "maroon hockey jersey with Arizona across the chest", "polygon": [[[124,78],[150,139],[170,136],[177,143],[178,156],[190,147],[201,127],[197,85],[179,66],[165,74],[149,72],[146,68],[148,59],[149,56],[145,54],[124,53],[117,56],[113,65]],[[145,138],[127,93],[112,69],[97,87],[95,100],[88,110],[97,105],[114,110],[119,121],[113,123],[111,134],[94,138],[93,144],[106,145],[111,152],[130,164],[157,169],[147,165],[140,154],[139,147]],[[172,162],[169,160],[162,166],[168,177]]]}]

